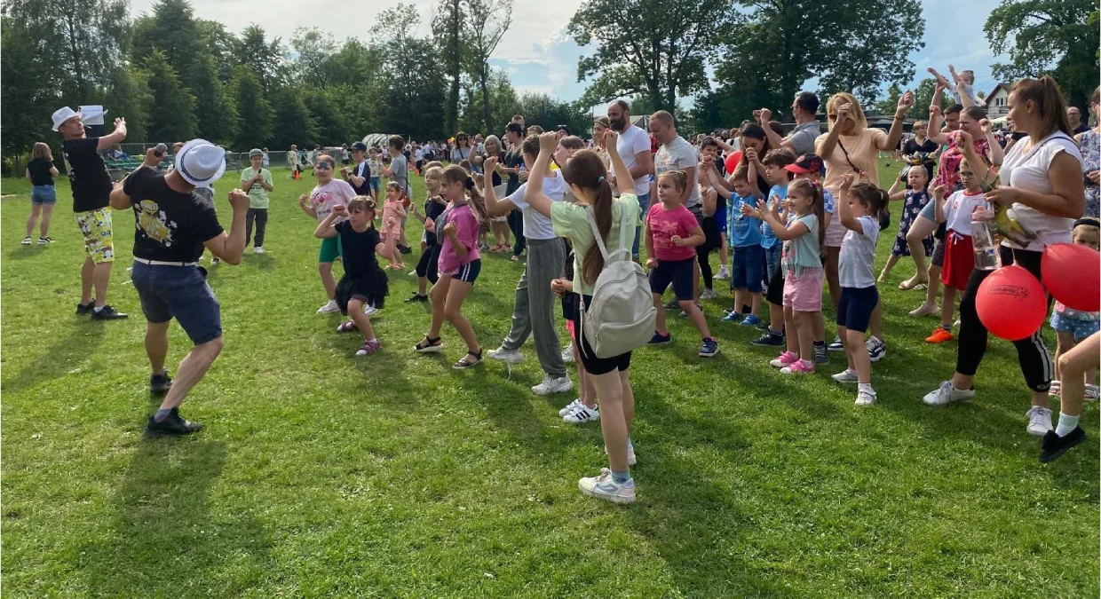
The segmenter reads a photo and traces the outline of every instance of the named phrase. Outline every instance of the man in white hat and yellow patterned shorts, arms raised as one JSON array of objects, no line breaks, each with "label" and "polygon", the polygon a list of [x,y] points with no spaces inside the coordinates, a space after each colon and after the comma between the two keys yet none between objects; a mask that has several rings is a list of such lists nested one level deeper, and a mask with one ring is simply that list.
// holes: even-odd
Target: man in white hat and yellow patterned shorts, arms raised
[{"label": "man in white hat and yellow patterned shorts, arms raised", "polygon": [[[115,131],[101,138],[89,138],[84,130],[83,116],[69,107],[54,112],[54,131],[65,140],[65,162],[68,164],[73,185],[73,213],[84,235],[86,258],[80,269],[80,303],[76,314],[91,314],[94,320],[115,320],[127,315],[107,303],[107,284],[111,280],[115,262],[115,241],[111,227],[111,176],[103,164],[100,150],[106,150],[127,138],[126,119],[115,119]],[[92,288],[96,291],[92,301]]]}]

